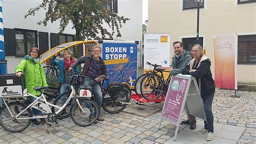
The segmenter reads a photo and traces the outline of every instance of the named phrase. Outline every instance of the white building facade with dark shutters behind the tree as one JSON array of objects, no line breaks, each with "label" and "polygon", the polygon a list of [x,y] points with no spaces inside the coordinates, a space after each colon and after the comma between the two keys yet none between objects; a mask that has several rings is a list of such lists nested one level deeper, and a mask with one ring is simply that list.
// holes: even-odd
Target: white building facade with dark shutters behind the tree
[{"label": "white building facade with dark shutters behind the tree", "polygon": [[[66,26],[65,31],[58,35],[59,22],[48,23],[47,26],[38,25],[44,19],[43,9],[35,13],[35,16],[24,18],[28,10],[35,8],[43,0],[8,0],[2,2],[3,28],[5,43],[5,59],[7,60],[7,72],[14,73],[15,67],[20,63],[25,54],[33,46],[37,46],[43,53],[54,46],[71,42],[75,39],[75,30],[72,23]],[[122,37],[120,40],[142,40],[142,0],[112,0],[106,9],[117,12],[118,15],[130,18],[120,28]]]}]

